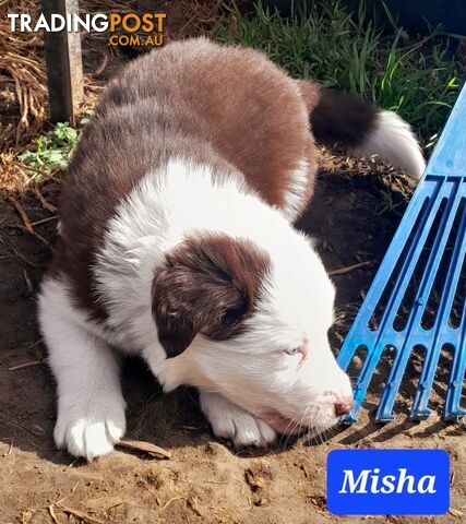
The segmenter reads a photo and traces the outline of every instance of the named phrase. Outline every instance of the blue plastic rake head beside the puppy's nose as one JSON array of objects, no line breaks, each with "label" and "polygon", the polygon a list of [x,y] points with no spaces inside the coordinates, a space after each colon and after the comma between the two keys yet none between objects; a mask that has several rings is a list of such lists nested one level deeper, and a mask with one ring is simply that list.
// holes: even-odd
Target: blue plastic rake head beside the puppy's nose
[{"label": "blue plastic rake head beside the puppy's nose", "polygon": [[[466,415],[459,406],[466,367],[465,204],[466,86],[338,354],[339,366],[346,370],[356,352],[360,348],[366,352],[354,389],[355,407],[345,419],[347,424],[356,421],[387,347],[394,350],[394,360],[377,421],[393,420],[393,404],[416,347],[423,350],[425,360],[410,419],[425,419],[430,414],[429,395],[442,348],[453,353],[443,418],[459,420]],[[434,313],[432,297],[437,297]],[[434,319],[427,323],[425,319],[432,314]]]}]

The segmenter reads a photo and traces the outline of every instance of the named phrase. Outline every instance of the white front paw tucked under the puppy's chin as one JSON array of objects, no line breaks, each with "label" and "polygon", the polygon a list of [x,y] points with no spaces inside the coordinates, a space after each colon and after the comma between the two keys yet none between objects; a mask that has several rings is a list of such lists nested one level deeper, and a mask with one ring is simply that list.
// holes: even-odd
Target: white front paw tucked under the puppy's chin
[{"label": "white front paw tucked under the puppy's chin", "polygon": [[217,437],[229,439],[235,446],[266,446],[276,432],[266,422],[217,393],[200,394],[201,408]]}]

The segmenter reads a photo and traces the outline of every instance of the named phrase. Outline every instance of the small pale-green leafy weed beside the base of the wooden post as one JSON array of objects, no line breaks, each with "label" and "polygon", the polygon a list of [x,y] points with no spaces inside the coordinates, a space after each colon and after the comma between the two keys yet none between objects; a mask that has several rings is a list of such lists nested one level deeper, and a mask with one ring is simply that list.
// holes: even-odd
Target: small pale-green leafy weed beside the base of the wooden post
[{"label": "small pale-green leafy weed beside the base of the wooden post", "polygon": [[29,167],[26,169],[27,175],[39,179],[52,169],[67,169],[76,141],[77,131],[67,122],[59,122],[47,134],[34,141],[34,151],[25,151],[19,159]]}]

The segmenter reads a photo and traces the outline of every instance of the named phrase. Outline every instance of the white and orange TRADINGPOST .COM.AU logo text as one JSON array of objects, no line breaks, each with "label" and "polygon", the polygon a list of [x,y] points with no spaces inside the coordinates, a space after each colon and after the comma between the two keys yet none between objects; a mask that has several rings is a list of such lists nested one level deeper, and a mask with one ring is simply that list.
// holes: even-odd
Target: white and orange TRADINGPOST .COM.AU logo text
[{"label": "white and orange TRADINGPOST .COM.AU logo text", "polygon": [[26,13],[9,13],[12,33],[108,33],[109,46],[163,46],[165,43],[165,13],[95,13],[65,15],[41,13],[36,20]]}]

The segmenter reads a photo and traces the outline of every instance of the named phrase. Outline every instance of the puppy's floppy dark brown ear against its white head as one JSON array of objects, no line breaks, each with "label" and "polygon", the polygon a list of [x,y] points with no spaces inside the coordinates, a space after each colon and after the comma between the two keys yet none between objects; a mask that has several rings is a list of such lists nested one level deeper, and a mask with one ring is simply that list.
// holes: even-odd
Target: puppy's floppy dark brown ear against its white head
[{"label": "puppy's floppy dark brown ear against its white head", "polygon": [[155,271],[152,311],[167,357],[180,355],[198,333],[237,334],[251,314],[270,260],[251,242],[224,235],[189,239]]}]

